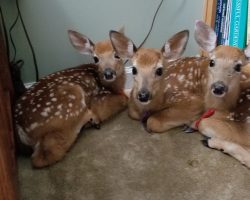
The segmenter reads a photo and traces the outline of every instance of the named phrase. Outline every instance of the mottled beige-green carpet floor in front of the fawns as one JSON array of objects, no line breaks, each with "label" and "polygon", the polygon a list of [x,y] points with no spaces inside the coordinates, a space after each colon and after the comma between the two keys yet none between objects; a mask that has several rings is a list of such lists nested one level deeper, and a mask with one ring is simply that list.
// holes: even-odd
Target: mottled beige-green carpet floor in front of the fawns
[{"label": "mottled beige-green carpet floor in front of the fawns", "polygon": [[64,160],[19,157],[21,200],[249,200],[250,170],[197,134],[150,135],[121,113],[86,129]]}]

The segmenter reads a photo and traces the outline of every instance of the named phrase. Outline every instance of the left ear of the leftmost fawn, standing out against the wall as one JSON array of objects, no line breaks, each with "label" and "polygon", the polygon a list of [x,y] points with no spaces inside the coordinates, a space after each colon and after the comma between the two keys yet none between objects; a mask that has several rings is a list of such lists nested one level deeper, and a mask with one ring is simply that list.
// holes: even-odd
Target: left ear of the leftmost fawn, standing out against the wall
[{"label": "left ear of the leftmost fawn, standing out against the wall", "polygon": [[73,30],[68,30],[69,40],[73,47],[81,54],[90,54],[94,52],[94,43],[85,35]]}]

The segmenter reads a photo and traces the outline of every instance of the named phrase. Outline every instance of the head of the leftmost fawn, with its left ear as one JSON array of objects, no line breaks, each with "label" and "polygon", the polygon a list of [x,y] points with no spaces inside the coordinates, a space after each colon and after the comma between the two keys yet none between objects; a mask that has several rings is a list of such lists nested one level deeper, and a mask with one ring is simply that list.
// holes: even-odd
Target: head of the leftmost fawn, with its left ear
[{"label": "head of the leftmost fawn, with its left ear", "polygon": [[89,54],[93,57],[103,82],[111,83],[124,73],[123,61],[115,54],[110,40],[94,44],[89,38],[76,31],[69,30],[68,34],[72,45],[81,54]]}]

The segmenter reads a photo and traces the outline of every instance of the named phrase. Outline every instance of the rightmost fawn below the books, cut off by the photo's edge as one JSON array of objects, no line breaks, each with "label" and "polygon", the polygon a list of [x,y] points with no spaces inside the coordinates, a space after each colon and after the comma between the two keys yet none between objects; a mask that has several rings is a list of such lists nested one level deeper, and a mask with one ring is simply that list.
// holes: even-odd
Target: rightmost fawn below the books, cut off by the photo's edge
[{"label": "rightmost fawn below the books, cut off by the photo's edge", "polygon": [[[242,67],[249,62],[250,45],[244,50],[216,47],[215,32],[202,21],[196,22],[195,38],[210,57],[204,100],[205,107],[212,108],[214,114],[196,122],[207,137],[203,144],[250,167],[250,79],[240,82]],[[245,72],[248,74],[249,70]]]}]

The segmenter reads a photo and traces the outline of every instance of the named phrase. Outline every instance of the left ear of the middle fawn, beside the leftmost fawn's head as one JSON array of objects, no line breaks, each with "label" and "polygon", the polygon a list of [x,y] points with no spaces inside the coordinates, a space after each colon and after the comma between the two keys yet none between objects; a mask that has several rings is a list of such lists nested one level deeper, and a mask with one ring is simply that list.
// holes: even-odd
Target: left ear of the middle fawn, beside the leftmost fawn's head
[{"label": "left ear of the middle fawn, beside the leftmost fawn's head", "polygon": [[136,52],[136,46],[123,33],[110,31],[109,37],[115,52],[122,58],[132,58]]}]

